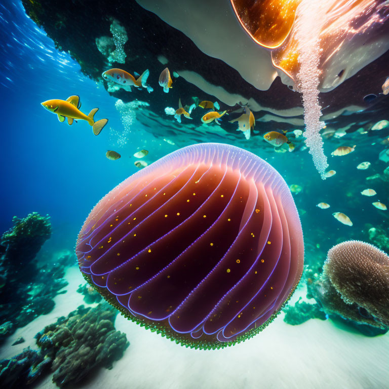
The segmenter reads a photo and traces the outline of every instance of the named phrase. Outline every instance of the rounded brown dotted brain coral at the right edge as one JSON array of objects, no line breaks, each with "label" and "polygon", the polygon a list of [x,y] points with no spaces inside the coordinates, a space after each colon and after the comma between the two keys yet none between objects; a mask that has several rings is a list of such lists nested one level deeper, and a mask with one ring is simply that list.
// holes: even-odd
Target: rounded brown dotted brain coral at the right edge
[{"label": "rounded brown dotted brain coral at the right edge", "polygon": [[389,326],[389,256],[368,243],[343,242],[329,250],[324,271],[345,302]]}]

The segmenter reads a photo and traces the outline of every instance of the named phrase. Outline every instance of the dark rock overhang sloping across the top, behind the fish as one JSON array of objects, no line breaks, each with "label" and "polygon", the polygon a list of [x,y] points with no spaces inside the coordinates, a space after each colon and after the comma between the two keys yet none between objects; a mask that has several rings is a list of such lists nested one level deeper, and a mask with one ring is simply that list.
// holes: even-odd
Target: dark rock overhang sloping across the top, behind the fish
[{"label": "dark rock overhang sloping across the top, behind the fish", "polygon": [[[257,112],[255,116],[259,121],[263,116],[266,116],[266,120],[272,120],[273,116],[274,120],[287,124],[291,118],[298,118],[302,126],[301,97],[282,84],[279,77],[275,79],[273,77],[274,81],[268,90],[256,89],[245,81],[236,69],[220,59],[204,54],[184,33],[154,13],[145,10],[135,1],[119,1],[112,8],[106,0],[99,0],[92,10],[82,3],[63,5],[60,3],[55,9],[51,7],[49,0],[34,3],[22,0],[22,3],[27,14],[53,38],[58,49],[68,51],[79,62],[82,71],[100,83],[102,83],[101,73],[109,65],[97,49],[95,41],[96,38],[110,35],[112,18],[118,20],[130,36],[129,41],[124,45],[127,54],[126,62],[120,66],[138,72],[146,68],[150,69],[149,83],[154,88],[151,94],[145,91],[142,93],[128,93],[122,90],[114,92],[113,95],[123,101],[139,98],[148,102],[152,111],[164,115],[165,99],[155,98],[155,93],[162,93],[158,86],[158,75],[166,66],[157,58],[165,57],[172,71],[181,72],[186,76],[198,75],[204,80],[203,85],[192,85],[179,77],[170,92],[172,101],[178,101],[179,97],[183,102],[190,101],[191,96],[212,100],[214,97],[204,93],[202,89],[215,95],[217,94],[215,91],[218,90],[220,96],[216,98],[222,102],[226,100],[232,104],[231,101],[237,103],[248,101],[251,109]],[[145,2],[139,1],[139,3]],[[182,7],[186,3],[182,3]],[[238,21],[235,22],[241,28]],[[231,50],[236,53],[238,48],[231,48]],[[321,93],[320,102],[324,107],[323,120],[328,123],[336,120],[345,125],[367,120],[366,116],[371,114],[371,111],[379,112],[387,109],[389,101],[380,95],[380,92],[387,76],[388,60],[389,52],[386,52],[356,75],[345,80],[335,90]],[[115,66],[115,63],[112,63],[112,66]],[[364,101],[364,96],[371,93],[378,97],[373,102]],[[360,112],[364,109],[368,109],[367,115]],[[355,111],[359,111],[357,117],[349,114]],[[270,118],[268,113],[272,115]],[[342,113],[347,115],[339,117]],[[223,124],[223,128],[228,132],[235,132],[232,125]]]}]

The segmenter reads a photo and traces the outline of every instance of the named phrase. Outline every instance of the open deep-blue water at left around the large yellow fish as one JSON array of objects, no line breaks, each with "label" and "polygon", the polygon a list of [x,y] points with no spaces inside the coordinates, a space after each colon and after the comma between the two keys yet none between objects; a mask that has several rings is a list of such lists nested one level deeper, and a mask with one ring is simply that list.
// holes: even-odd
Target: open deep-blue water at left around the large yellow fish
[{"label": "open deep-blue water at left around the large yellow fish", "polygon": [[[137,170],[129,155],[151,136],[134,126],[132,153],[118,161],[107,160],[109,127],[123,128],[116,99],[83,75],[68,53],[56,50],[19,2],[0,5],[0,31],[0,230],[12,225],[14,215],[49,214],[53,240],[71,242],[72,247],[97,201]],[[83,121],[72,126],[59,123],[40,105],[74,94],[80,95],[82,111],[99,107],[96,118],[109,118],[99,136]]]}]

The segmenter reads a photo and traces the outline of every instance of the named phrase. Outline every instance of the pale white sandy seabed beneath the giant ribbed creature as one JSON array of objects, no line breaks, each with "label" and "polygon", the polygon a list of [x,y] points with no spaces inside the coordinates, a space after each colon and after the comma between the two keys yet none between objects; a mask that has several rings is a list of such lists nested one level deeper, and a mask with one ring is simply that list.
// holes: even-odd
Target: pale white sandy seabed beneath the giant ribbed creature
[{"label": "pale white sandy seabed beneath the giant ribbed creature", "polygon": [[[45,325],[83,304],[76,292],[84,283],[76,267],[67,270],[67,293],[55,298],[53,311],[18,329],[0,349],[0,359],[36,348],[34,335]],[[95,304],[93,304],[95,305]],[[373,338],[338,328],[330,320],[287,325],[280,315],[254,338],[225,349],[201,351],[145,330],[118,315],[117,330],[130,346],[113,369],[99,369],[85,388],[389,388],[389,333]],[[23,336],[24,343],[11,346]],[[51,376],[38,385],[57,386]]]}]

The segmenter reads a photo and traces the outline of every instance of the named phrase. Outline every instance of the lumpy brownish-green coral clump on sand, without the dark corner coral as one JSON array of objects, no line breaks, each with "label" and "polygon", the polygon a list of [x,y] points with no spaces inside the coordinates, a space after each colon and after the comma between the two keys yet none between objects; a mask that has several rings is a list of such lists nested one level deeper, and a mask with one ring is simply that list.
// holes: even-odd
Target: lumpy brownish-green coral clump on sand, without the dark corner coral
[{"label": "lumpy brownish-green coral clump on sand, without the dark corner coral", "polygon": [[116,314],[106,302],[95,308],[81,305],[36,334],[42,355],[52,361],[53,382],[73,386],[98,367],[110,369],[123,356],[129,342],[115,330]]}]

